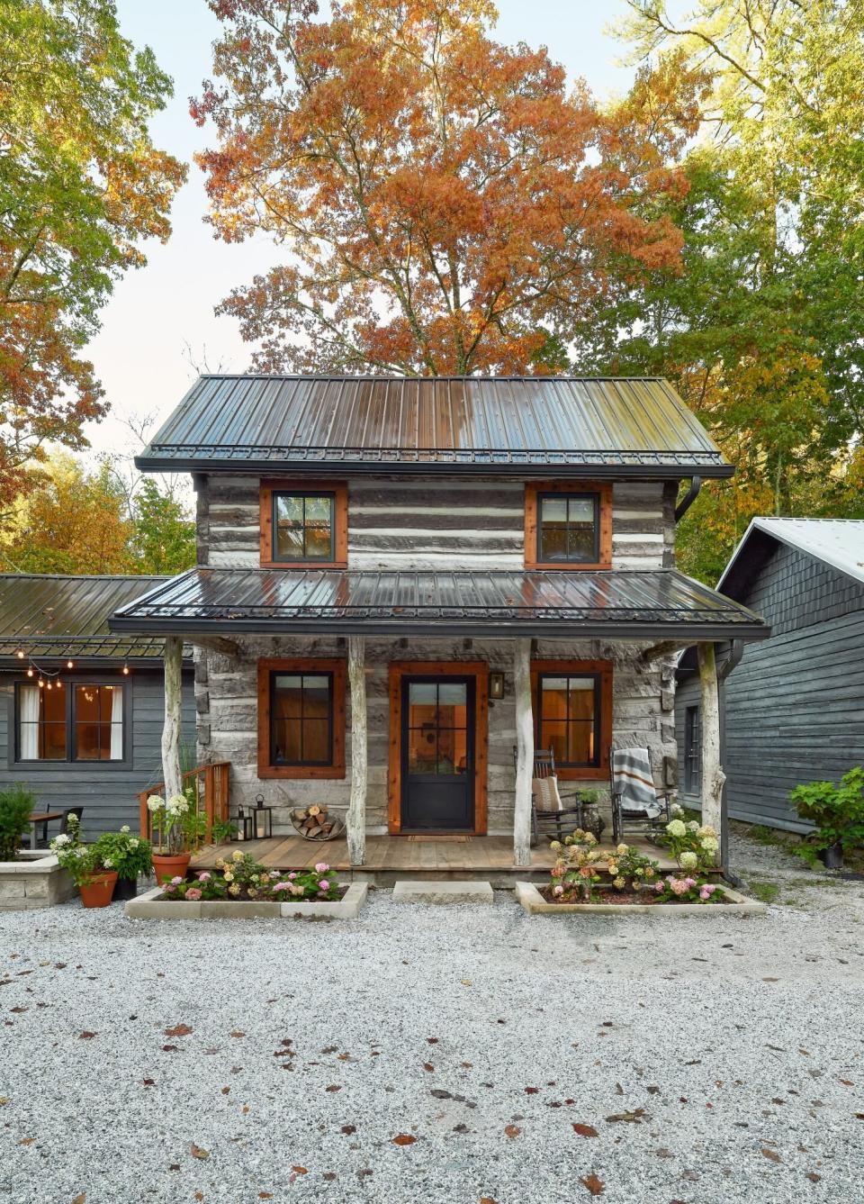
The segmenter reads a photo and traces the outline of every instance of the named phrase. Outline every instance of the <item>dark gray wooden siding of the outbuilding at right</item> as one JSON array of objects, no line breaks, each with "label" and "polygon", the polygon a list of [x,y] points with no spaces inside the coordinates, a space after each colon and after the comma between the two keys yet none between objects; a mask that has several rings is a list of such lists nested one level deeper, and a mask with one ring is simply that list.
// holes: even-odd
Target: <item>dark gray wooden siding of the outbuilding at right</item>
[{"label": "dark gray wooden siding of the outbuilding at right", "polygon": [[[733,819],[800,832],[789,791],[864,763],[864,586],[782,543],[754,563],[740,601],[771,637],[745,645],[726,683],[727,802]],[[679,684],[681,757],[698,697],[698,679]]]}]

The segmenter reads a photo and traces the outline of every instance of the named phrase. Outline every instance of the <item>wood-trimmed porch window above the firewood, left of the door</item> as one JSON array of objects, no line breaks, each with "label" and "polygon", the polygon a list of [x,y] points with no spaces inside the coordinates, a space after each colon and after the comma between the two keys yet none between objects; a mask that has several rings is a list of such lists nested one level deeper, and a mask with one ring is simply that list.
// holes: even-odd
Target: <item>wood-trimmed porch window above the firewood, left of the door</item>
[{"label": "wood-trimmed porch window above the firewood, left of the door", "polygon": [[258,662],[259,778],[344,778],[345,662]]}]

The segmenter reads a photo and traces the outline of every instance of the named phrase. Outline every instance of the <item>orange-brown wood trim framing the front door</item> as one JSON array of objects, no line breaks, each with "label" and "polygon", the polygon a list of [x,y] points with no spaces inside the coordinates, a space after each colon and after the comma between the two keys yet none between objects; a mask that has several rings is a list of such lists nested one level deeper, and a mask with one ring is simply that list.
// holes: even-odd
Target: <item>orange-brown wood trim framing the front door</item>
[{"label": "orange-brown wood trim framing the front door", "polygon": [[489,665],[484,661],[391,661],[389,666],[390,751],[387,831],[402,832],[402,678],[474,678],[474,827],[460,834],[485,836],[489,777]]}]

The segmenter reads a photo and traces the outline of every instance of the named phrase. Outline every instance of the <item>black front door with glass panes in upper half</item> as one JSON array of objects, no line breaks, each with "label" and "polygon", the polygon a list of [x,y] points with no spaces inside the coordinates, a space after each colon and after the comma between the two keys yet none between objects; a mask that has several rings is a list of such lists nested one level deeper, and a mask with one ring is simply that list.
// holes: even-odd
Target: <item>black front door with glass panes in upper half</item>
[{"label": "black front door with glass panes in upper half", "polygon": [[474,828],[474,678],[402,679],[402,831]]}]

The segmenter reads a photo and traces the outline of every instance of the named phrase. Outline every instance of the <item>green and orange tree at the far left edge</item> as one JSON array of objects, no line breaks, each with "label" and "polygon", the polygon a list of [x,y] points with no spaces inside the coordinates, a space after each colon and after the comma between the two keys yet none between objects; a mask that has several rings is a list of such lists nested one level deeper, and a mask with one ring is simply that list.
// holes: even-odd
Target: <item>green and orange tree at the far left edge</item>
[{"label": "green and orange tree at the far left edge", "polygon": [[147,123],[170,95],[111,0],[0,0],[0,509],[105,413],[82,352],[142,241],[168,236],[185,170]]}]

